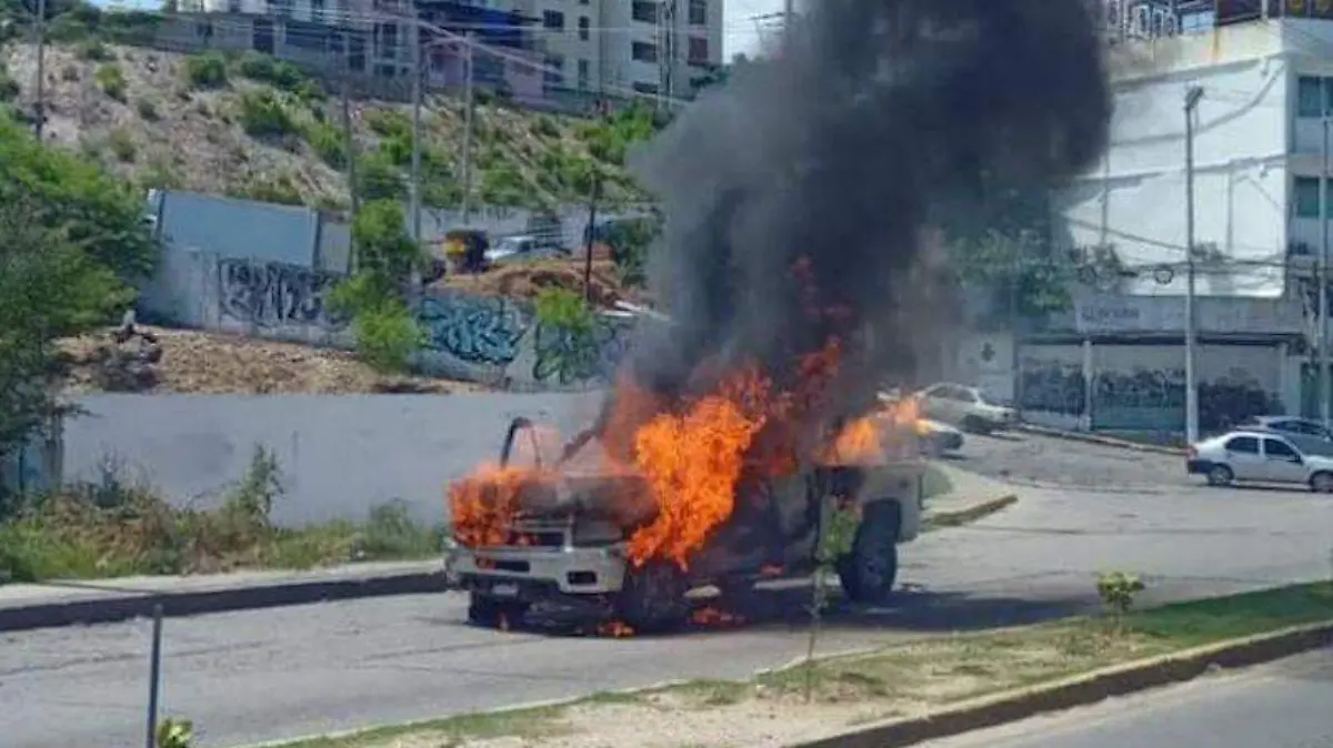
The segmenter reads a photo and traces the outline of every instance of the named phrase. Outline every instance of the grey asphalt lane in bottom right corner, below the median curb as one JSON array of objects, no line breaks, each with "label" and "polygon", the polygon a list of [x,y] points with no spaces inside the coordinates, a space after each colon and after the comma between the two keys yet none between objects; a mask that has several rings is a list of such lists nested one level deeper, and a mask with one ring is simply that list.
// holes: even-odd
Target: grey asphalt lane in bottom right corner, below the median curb
[{"label": "grey asphalt lane in bottom right corner, below the median curb", "polygon": [[985,729],[922,748],[1328,748],[1333,650]]}]

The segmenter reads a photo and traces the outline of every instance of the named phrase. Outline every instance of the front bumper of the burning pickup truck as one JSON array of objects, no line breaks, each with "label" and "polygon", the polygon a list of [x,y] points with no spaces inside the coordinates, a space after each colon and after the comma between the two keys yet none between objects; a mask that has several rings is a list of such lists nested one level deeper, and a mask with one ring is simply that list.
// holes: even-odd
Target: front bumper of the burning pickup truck
[{"label": "front bumper of the burning pickup truck", "polygon": [[607,595],[625,583],[625,558],[616,546],[445,548],[452,584],[497,598]]}]

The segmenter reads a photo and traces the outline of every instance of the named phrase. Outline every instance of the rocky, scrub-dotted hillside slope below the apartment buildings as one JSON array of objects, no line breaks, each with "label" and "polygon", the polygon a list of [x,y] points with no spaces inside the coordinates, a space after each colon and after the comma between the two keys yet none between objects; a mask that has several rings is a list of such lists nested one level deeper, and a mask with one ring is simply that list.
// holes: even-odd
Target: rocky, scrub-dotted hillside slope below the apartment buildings
[{"label": "rocky, scrub-dotted hillside slope below the apartment buildings", "polygon": [[[0,97],[19,113],[31,112],[35,48],[9,44],[0,49]],[[45,65],[48,140],[77,148],[144,188],[348,204],[341,101],[291,65],[253,53],[183,56],[99,41],[49,45]],[[359,101],[353,110],[360,194],[404,196],[408,106]],[[611,201],[637,198],[616,166],[616,137],[608,145],[604,125],[484,101],[475,124],[473,200],[513,206],[581,201],[595,164],[609,177]],[[460,102],[432,97],[425,130],[423,200],[456,205]]]}]

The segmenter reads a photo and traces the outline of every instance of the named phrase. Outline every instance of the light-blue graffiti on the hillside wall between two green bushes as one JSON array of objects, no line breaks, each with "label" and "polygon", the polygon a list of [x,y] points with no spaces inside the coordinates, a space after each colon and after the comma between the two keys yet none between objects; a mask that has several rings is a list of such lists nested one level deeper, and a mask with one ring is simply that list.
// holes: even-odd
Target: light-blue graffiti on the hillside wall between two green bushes
[{"label": "light-blue graffiti on the hillside wall between two green bushes", "polygon": [[421,301],[427,347],[467,363],[508,366],[519,357],[528,314],[503,298],[449,294]]}]

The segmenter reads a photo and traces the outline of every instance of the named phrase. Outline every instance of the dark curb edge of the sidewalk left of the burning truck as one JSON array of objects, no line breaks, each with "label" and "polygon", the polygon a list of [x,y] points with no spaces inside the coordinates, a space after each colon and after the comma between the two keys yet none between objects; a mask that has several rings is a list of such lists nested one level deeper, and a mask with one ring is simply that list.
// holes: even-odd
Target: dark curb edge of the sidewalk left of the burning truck
[{"label": "dark curb edge of the sidewalk left of the burning truck", "polygon": [[188,592],[108,591],[93,598],[0,607],[0,631],[119,623],[151,616],[157,604],[161,604],[164,616],[175,618],[353,598],[419,595],[445,590],[448,590],[448,583],[443,572],[417,571],[356,579],[277,582]]}]

